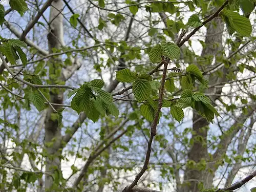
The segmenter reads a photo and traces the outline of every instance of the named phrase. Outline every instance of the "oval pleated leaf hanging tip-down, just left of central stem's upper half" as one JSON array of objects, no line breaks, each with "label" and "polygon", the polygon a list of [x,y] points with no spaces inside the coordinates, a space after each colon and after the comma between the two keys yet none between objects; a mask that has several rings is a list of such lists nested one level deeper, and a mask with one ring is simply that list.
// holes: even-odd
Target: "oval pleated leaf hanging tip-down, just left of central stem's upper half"
[{"label": "oval pleated leaf hanging tip-down, just left of central stem's upper half", "polygon": [[150,81],[146,79],[136,79],[133,83],[133,93],[138,102],[146,100],[151,95]]}]

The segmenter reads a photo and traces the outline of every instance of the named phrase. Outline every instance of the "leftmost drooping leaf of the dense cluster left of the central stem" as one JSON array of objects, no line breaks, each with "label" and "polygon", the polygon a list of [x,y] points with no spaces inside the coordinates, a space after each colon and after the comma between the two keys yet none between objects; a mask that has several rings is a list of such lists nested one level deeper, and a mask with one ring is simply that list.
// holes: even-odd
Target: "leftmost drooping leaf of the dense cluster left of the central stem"
[{"label": "leftmost drooping leaf of the dense cluster left of the central stem", "polygon": [[88,88],[87,84],[83,84],[71,101],[71,109],[75,110],[78,114],[82,111],[90,111],[91,96],[92,90]]}]

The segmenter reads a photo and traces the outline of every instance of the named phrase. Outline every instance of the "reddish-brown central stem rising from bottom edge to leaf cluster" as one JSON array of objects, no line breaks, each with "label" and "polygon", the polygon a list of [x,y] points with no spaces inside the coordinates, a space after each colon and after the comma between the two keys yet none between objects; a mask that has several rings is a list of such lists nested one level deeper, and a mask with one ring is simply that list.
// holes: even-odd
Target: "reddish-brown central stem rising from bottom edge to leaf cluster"
[{"label": "reddish-brown central stem rising from bottom edge to leaf cluster", "polygon": [[147,152],[146,152],[145,162],[144,162],[144,165],[143,165],[142,169],[140,170],[139,174],[135,177],[134,181],[132,182],[132,184],[129,186],[126,186],[122,190],[123,192],[130,191],[135,185],[137,185],[139,179],[145,173],[148,163],[150,162],[151,146],[152,146],[153,138],[157,134],[157,122],[158,122],[159,114],[160,114],[162,104],[163,104],[162,100],[163,100],[163,92],[164,92],[164,83],[165,83],[165,77],[166,77],[167,67],[168,67],[168,63],[169,63],[169,58],[167,58],[166,60],[163,59],[162,62],[164,64],[164,70],[163,70],[163,76],[162,76],[160,93],[159,93],[158,109],[157,109],[157,112],[155,115],[155,119],[151,125],[151,134],[150,134],[150,139],[148,140],[148,143],[147,143]]}]

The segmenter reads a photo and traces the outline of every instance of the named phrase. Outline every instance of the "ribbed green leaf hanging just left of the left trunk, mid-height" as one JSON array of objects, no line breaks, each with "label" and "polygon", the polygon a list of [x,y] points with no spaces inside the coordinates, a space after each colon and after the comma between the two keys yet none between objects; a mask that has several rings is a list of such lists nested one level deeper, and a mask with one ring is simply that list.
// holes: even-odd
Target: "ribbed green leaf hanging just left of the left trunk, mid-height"
[{"label": "ribbed green leaf hanging just left of the left trunk, mid-height", "polygon": [[25,95],[26,98],[29,99],[30,102],[32,102],[36,109],[40,112],[46,108],[45,99],[42,97],[42,95],[37,91],[33,90]]}]

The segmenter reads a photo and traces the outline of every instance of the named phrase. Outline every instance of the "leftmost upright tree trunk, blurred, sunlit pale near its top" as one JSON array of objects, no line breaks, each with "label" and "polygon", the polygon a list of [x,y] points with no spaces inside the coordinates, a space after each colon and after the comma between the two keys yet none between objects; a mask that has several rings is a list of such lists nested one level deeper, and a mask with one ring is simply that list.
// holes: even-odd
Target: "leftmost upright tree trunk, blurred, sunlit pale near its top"
[{"label": "leftmost upright tree trunk, blurred, sunlit pale near its top", "polygon": [[[48,45],[49,53],[53,52],[53,48],[60,49],[63,43],[63,16],[61,14],[61,9],[63,8],[63,3],[61,0],[54,0],[50,10],[50,29],[48,34]],[[61,74],[61,65],[60,59],[50,60],[49,68],[52,68],[50,72],[50,79],[52,83],[56,82],[56,79],[60,79]],[[61,90],[52,89],[50,91],[50,100],[53,103],[62,103],[63,102],[63,93]],[[55,107],[55,110],[58,108]],[[47,111],[47,117],[45,121],[45,145],[47,151],[46,158],[46,172],[50,171],[50,174],[45,176],[45,188],[46,191],[53,187],[53,178],[52,175],[55,172],[58,172],[58,178],[54,178],[54,182],[57,183],[58,179],[61,179],[61,169],[60,169],[60,155],[61,150],[59,149],[61,142],[61,127],[58,124],[57,120],[53,120],[52,114],[53,109],[49,108]],[[56,174],[57,175],[57,174]],[[57,185],[58,186],[58,185]],[[52,191],[52,190],[51,190]]]}]

